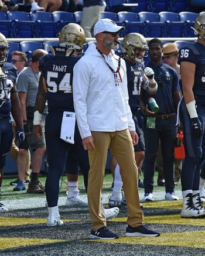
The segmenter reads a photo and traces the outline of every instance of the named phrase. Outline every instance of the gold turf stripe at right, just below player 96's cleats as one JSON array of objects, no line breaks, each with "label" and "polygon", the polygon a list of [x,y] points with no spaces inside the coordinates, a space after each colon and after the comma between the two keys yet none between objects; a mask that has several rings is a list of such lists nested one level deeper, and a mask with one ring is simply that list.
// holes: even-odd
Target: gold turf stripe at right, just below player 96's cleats
[{"label": "gold turf stripe at right, just below player 96's cleats", "polygon": [[[126,222],[127,217],[114,218],[108,221]],[[145,223],[204,226],[205,219],[181,218],[180,214],[174,214],[174,215],[148,216],[148,217],[145,217]]]}]

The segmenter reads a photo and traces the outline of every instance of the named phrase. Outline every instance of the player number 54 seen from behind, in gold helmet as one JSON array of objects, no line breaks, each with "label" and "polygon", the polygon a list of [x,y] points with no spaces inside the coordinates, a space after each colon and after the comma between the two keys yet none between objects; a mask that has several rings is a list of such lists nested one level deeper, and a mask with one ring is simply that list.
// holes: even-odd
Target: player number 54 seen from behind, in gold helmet
[{"label": "player number 54 seen from behind, in gold helmet", "polygon": [[[59,46],[51,47],[52,53],[42,57],[39,63],[42,74],[39,80],[33,124],[35,133],[40,136],[41,113],[47,99],[49,110],[45,126],[49,163],[49,173],[46,179],[46,199],[49,210],[47,226],[63,224],[63,221],[60,220],[57,201],[59,179],[63,172],[67,153],[73,152],[80,169],[83,170],[84,180],[87,180],[90,169],[88,153],[83,148],[75,121],[72,89],[73,67],[81,57],[79,53],[81,53],[85,42],[86,37],[81,26],[69,23],[60,32]],[[72,173],[70,174],[72,175]],[[72,202],[76,200],[80,200],[78,190],[75,190],[73,197],[67,197],[66,205],[71,206]],[[112,215],[112,217],[114,216]]]}]

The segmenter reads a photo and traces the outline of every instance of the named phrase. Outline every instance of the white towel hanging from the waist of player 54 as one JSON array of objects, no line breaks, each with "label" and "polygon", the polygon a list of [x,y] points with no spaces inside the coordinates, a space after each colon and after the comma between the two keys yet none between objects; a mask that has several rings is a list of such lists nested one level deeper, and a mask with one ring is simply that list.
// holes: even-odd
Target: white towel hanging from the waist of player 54
[{"label": "white towel hanging from the waist of player 54", "polygon": [[74,144],[74,132],[76,124],[76,114],[74,112],[63,112],[62,129],[60,132],[60,138],[63,141]]}]

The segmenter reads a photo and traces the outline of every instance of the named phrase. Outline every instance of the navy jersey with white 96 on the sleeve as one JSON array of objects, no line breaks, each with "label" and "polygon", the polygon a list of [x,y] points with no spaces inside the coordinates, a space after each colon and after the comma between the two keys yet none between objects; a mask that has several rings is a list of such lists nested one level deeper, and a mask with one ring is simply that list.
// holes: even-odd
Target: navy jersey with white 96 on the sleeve
[{"label": "navy jersey with white 96 on the sleeve", "polygon": [[182,47],[179,52],[179,63],[192,62],[196,65],[193,93],[205,95],[205,46],[194,43]]}]

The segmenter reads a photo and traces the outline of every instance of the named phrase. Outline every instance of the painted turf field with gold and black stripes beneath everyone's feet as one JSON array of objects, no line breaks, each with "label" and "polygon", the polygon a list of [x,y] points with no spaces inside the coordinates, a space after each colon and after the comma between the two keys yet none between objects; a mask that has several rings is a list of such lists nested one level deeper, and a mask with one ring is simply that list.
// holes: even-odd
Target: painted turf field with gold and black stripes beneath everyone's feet
[{"label": "painted turf field with gold and black stripes beneath everyone's feet", "polygon": [[[87,207],[66,207],[66,176],[60,182],[59,209],[64,226],[47,227],[45,195],[30,195],[13,192],[4,179],[2,202],[13,208],[0,215],[0,255],[204,255],[205,219],[182,219],[182,200],[163,200],[163,187],[155,186],[156,201],[143,203],[145,223],[158,229],[160,237],[124,237],[127,209],[120,210],[116,219],[107,226],[120,235],[117,240],[89,240],[90,219]],[[156,176],[155,176],[156,180]],[[44,184],[45,177],[40,178]],[[112,177],[105,176],[103,201],[105,207],[111,194]],[[80,176],[81,196],[86,198],[83,180]],[[143,190],[139,192],[140,198]],[[180,185],[176,194],[182,199]]]}]

